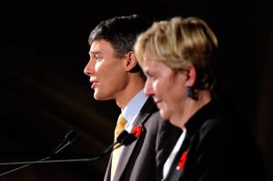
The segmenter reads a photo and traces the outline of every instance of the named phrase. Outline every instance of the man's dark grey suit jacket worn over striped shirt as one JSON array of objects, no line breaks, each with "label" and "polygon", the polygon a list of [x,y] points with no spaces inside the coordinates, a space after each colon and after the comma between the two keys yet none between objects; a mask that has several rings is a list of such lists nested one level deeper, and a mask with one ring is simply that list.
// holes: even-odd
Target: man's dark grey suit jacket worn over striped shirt
[{"label": "man's dark grey suit jacket worn over striped shirt", "polygon": [[[147,99],[134,126],[142,126],[141,136],[129,146],[124,146],[116,168],[114,181],[161,180],[163,166],[181,131],[163,120],[151,98]],[[110,180],[111,157],[105,181]]]}]

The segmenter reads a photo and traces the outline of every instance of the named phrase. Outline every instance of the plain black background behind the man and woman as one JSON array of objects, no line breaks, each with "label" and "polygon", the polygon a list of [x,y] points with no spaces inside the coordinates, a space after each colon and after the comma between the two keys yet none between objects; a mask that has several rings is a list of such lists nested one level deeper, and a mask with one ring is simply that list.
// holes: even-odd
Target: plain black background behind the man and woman
[{"label": "plain black background behind the man and woman", "polygon": [[[47,156],[71,129],[80,140],[66,156],[103,152],[119,110],[114,101],[96,102],[83,74],[90,31],[114,15],[194,15],[218,36],[221,91],[252,129],[273,180],[272,7],[259,0],[0,0],[0,162]],[[29,166],[0,180],[102,180],[107,159]]]}]

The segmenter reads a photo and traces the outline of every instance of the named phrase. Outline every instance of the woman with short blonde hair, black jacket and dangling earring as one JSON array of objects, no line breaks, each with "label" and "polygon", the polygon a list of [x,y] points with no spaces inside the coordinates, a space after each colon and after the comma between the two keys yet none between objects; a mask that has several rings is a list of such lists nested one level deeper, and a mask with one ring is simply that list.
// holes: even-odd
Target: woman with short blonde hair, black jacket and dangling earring
[{"label": "woman with short blonde hair, black jacket and dangling earring", "polygon": [[183,131],[164,166],[165,180],[264,180],[255,139],[216,95],[217,51],[216,35],[197,17],[154,23],[137,38],[145,94]]}]

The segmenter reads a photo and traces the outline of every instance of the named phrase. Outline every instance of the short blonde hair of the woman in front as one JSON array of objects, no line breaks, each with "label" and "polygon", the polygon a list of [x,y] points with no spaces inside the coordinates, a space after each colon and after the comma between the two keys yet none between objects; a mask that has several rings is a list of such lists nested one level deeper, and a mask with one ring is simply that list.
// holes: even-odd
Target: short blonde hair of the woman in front
[{"label": "short blonde hair of the woman in front", "polygon": [[134,48],[140,65],[144,56],[153,57],[175,71],[187,70],[192,64],[197,69],[195,88],[210,89],[214,85],[217,37],[200,18],[177,16],[156,22],[138,36]]}]

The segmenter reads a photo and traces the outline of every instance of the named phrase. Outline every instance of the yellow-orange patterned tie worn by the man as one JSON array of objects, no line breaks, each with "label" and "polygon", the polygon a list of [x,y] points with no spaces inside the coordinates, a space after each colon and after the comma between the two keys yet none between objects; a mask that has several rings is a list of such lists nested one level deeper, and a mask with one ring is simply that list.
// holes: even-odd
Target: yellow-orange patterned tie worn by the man
[{"label": "yellow-orange patterned tie worn by the man", "polygon": [[[116,123],[115,141],[116,141],[116,137],[124,130],[124,128],[126,126],[126,122],[127,121],[126,121],[125,117],[120,114],[118,116],[117,123]],[[115,172],[116,172],[116,166],[118,164],[120,153],[121,153],[120,147],[116,148],[113,151],[112,166],[111,166],[111,180],[113,180],[113,178],[114,178],[114,175],[115,175]]]}]

